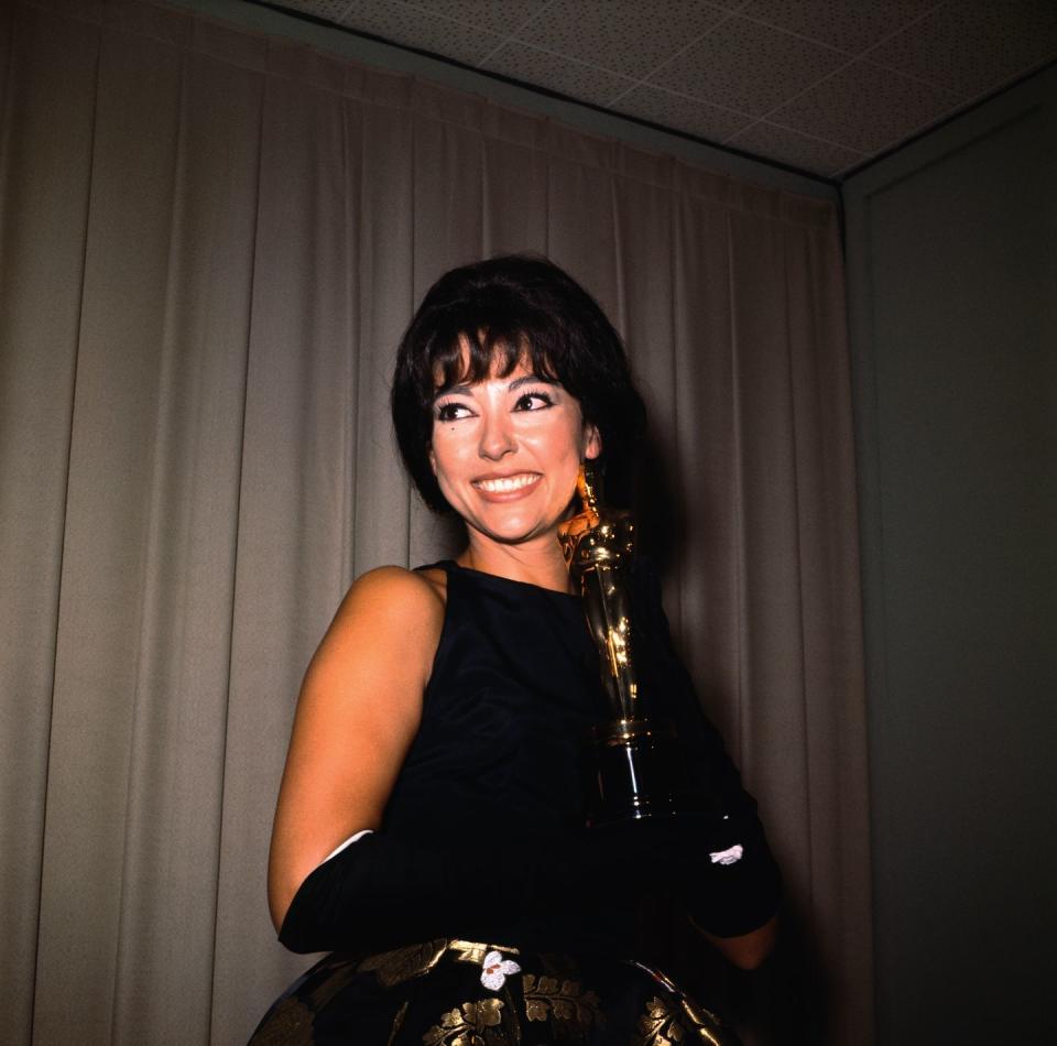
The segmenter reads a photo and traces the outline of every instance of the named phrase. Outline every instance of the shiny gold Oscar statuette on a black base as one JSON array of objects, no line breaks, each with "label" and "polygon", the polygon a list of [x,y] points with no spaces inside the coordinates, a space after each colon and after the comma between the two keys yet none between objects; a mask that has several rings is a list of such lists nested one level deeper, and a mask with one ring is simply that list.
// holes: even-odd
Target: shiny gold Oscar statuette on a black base
[{"label": "shiny gold Oscar statuette on a black base", "polygon": [[671,722],[650,713],[632,650],[631,565],[635,524],[631,514],[601,500],[597,477],[581,467],[580,511],[559,531],[562,551],[579,585],[588,628],[598,647],[610,718],[590,739],[588,822],[696,813],[704,797],[687,786]]}]

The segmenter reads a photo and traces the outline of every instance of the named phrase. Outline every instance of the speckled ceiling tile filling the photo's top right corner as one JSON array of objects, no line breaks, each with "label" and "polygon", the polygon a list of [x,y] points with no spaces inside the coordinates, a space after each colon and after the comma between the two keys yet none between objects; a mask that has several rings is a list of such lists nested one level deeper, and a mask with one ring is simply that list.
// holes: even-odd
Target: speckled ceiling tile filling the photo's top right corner
[{"label": "speckled ceiling tile filling the photo's top right corner", "polygon": [[1055,0],[947,3],[870,53],[966,101],[1057,58]]}]

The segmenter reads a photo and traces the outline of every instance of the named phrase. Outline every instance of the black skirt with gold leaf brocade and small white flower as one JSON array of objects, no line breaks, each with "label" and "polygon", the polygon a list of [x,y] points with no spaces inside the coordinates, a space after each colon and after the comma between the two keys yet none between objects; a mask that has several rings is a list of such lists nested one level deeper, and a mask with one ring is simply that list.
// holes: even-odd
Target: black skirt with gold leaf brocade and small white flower
[{"label": "black skirt with gold leaf brocade and small white flower", "polygon": [[633,961],[431,940],[334,952],[269,1010],[250,1046],[737,1046],[662,973]]}]

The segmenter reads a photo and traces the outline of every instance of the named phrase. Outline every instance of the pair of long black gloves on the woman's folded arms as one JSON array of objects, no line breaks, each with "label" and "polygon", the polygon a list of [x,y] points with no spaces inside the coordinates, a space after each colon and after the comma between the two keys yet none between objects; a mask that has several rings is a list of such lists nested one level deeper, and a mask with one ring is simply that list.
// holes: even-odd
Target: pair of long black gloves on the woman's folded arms
[{"label": "pair of long black gloves on the woman's folded arms", "polygon": [[[384,831],[350,843],[301,884],[280,929],[292,951],[383,951],[437,937],[489,939],[495,913],[554,914],[642,892],[675,893],[701,929],[732,937],[777,905],[777,870],[754,819],[657,820],[530,846],[459,846]],[[733,840],[733,841],[732,841]],[[740,860],[711,854],[734,842]],[[612,894],[612,897],[610,897]]]}]

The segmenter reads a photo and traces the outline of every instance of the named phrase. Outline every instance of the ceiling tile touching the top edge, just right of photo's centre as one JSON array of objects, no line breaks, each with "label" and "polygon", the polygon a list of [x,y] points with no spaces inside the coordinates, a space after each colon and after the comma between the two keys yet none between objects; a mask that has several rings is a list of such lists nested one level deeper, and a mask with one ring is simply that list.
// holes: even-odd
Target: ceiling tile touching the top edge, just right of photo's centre
[{"label": "ceiling tile touching the top edge, just right of photo's centre", "polygon": [[699,0],[555,0],[517,35],[639,79],[726,17]]}]

